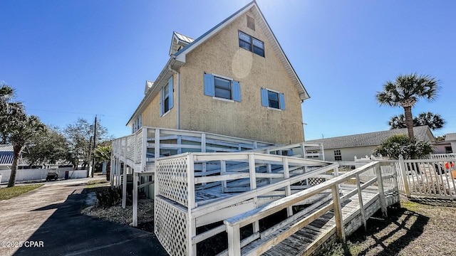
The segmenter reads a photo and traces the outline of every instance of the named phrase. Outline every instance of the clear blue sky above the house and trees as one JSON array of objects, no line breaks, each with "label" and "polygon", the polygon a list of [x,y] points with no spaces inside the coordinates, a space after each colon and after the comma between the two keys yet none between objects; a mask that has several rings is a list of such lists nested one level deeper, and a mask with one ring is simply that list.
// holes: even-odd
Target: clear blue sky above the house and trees
[{"label": "clear blue sky above the house and trees", "polygon": [[[172,31],[197,38],[246,0],[0,0],[0,81],[45,124],[66,127],[95,114],[115,137],[165,65]],[[413,114],[456,132],[456,1],[257,0],[311,95],[306,140],[388,129],[401,108],[375,92],[398,75],[431,75],[442,90]]]}]

